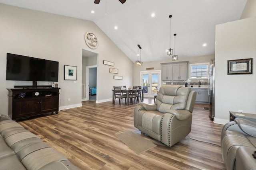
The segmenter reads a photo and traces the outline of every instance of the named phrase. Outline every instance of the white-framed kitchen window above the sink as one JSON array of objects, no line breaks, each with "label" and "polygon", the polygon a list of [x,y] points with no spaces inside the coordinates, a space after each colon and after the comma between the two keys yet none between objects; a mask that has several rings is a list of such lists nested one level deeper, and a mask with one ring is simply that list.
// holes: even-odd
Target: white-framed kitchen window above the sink
[{"label": "white-framed kitchen window above the sink", "polygon": [[189,64],[190,79],[207,79],[210,63]]}]

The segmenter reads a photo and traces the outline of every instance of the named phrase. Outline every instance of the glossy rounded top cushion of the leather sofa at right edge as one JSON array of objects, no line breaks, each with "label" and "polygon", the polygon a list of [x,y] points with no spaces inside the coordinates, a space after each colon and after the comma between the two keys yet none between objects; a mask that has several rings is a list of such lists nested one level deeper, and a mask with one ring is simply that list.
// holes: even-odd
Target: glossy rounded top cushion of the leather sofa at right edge
[{"label": "glossy rounded top cushion of the leather sofa at right edge", "polygon": [[236,117],[235,122],[246,134],[256,137],[256,122]]}]

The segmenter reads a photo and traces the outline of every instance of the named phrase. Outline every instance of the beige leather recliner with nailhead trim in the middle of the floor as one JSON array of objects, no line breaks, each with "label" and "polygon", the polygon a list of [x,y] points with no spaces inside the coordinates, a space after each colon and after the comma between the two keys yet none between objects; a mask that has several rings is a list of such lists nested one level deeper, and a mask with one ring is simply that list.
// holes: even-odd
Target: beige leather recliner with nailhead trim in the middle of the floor
[{"label": "beige leather recliner with nailhead trim in the middle of the floor", "polygon": [[172,146],[190,133],[195,100],[196,92],[188,87],[162,86],[155,104],[138,103],[134,126]]}]

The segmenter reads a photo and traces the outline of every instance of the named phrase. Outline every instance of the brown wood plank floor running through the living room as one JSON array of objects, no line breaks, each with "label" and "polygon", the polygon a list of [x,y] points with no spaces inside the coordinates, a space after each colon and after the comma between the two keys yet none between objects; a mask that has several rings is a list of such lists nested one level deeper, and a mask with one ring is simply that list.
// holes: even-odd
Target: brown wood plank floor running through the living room
[{"label": "brown wood plank floor running through the living room", "polygon": [[[154,99],[145,98],[145,103]],[[64,154],[82,170],[222,170],[220,134],[223,125],[209,119],[209,107],[196,104],[193,111],[192,131],[172,147],[142,134],[133,124],[134,105],[113,105],[82,102],[82,107],[46,114],[18,123],[38,135],[45,143]],[[133,131],[157,147],[137,155],[115,135]],[[193,139],[199,140],[195,141]],[[205,141],[208,143],[200,142]],[[213,145],[213,144],[216,145]]]}]

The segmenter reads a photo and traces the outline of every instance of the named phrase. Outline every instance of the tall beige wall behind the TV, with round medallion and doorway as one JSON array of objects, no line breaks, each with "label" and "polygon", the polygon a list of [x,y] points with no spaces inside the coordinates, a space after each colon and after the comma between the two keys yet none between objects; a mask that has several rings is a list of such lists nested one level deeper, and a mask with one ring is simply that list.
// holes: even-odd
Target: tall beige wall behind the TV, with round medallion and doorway
[{"label": "tall beige wall behind the TV, with round medallion and doorway", "polygon": [[[0,4],[0,112],[8,113],[6,88],[14,85],[32,85],[26,81],[6,81],[6,53],[49,59],[59,62],[60,109],[81,106],[82,49],[98,54],[98,100],[112,99],[112,88],[132,85],[132,61],[106,36],[99,27],[86,20],[59,16],[25,8]],[[98,48],[90,49],[84,35],[93,31],[98,38]],[[110,66],[103,60],[115,63],[123,80],[114,80]],[[64,80],[64,65],[77,66],[77,83]],[[38,82],[48,85],[48,82]],[[71,98],[68,104],[68,98]]]}]

